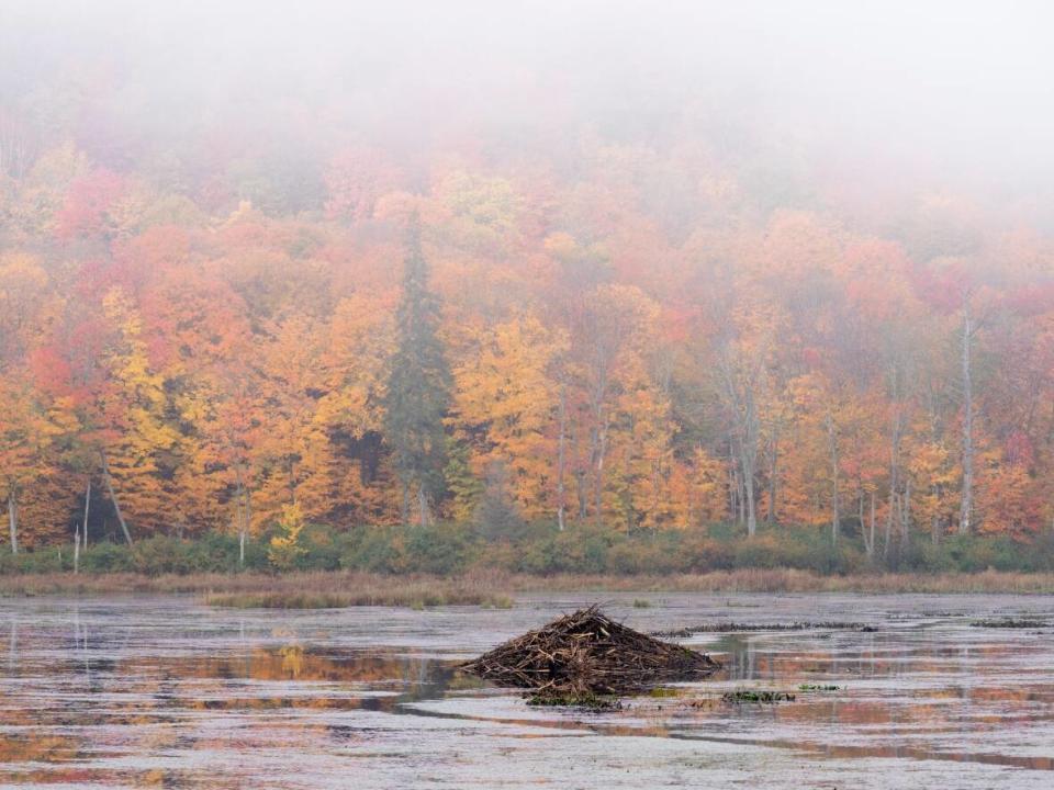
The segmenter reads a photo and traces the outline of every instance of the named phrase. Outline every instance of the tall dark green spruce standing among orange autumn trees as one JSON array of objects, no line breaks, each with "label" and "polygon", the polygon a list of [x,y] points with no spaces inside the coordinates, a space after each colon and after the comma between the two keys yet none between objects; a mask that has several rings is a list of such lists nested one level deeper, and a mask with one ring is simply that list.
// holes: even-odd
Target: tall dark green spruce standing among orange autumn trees
[{"label": "tall dark green spruce standing among orange autumn trees", "polygon": [[396,313],[399,345],[391,359],[384,433],[403,488],[403,522],[417,496],[421,524],[444,493],[446,433],[450,406],[450,366],[436,335],[439,301],[428,291],[428,263],[421,249],[421,226],[411,222],[403,263],[403,296]]}]

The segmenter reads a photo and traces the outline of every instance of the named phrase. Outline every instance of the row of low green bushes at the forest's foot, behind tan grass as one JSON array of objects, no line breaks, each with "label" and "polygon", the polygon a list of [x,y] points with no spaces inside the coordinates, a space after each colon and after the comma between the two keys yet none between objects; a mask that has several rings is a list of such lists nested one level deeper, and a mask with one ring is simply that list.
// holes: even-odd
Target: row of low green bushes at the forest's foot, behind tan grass
[{"label": "row of low green bushes at the forest's foot, behind tan grass", "polygon": [[[276,530],[246,542],[246,571],[273,572],[268,554]],[[289,569],[348,568],[386,574],[453,575],[471,567],[530,574],[673,574],[733,568],[789,567],[820,574],[851,574],[875,568],[923,573],[975,573],[1054,569],[1054,532],[1044,530],[1031,542],[1008,535],[946,535],[934,545],[928,533],[913,533],[907,546],[895,543],[888,562],[882,546],[868,561],[863,542],[852,530],[831,545],[827,527],[762,526],[753,538],[741,526],[714,524],[703,529],[625,531],[604,524],[554,522],[524,524],[516,535],[486,541],[473,524],[437,523],[426,528],[359,527],[336,531],[304,526],[299,551]],[[236,573],[237,535],[206,532],[193,539],[155,535],[133,549],[110,542],[93,543],[82,552],[85,573],[139,572],[148,575]],[[49,573],[72,569],[72,549],[42,546],[16,556],[0,550],[0,573]]]}]

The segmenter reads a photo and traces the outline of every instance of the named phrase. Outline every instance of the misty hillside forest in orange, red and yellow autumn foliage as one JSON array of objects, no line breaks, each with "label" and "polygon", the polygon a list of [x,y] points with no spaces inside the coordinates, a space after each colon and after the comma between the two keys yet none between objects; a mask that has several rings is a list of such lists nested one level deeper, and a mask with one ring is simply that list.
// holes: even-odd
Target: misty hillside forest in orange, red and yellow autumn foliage
[{"label": "misty hillside forest in orange, red and yellow autumn foliage", "polygon": [[2,83],[5,555],[1050,558],[1027,200],[820,156],[703,89],[629,114],[496,69],[505,103],[466,109],[423,60],[390,77],[411,97],[165,69],[98,46]]}]

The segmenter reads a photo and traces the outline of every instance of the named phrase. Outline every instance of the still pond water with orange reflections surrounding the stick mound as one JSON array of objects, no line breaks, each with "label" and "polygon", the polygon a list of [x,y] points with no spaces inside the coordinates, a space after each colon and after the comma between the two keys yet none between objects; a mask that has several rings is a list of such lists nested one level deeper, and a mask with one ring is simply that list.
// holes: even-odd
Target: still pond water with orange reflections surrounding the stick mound
[{"label": "still pond water with orange reflections surrounding the stick mound", "polygon": [[[725,668],[609,712],[528,707],[455,668],[596,600],[644,631],[756,630],[683,640]],[[971,625],[1008,617],[1043,624]],[[829,627],[764,629],[796,621]],[[722,701],[736,689],[795,699]],[[568,594],[303,612],[0,599],[0,786],[1054,787],[1054,598]]]}]

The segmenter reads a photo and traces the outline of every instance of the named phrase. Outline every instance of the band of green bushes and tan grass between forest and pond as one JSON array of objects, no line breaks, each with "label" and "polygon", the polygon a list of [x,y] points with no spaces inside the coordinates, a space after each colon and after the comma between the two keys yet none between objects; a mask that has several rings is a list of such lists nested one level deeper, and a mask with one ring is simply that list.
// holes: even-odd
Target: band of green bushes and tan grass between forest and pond
[{"label": "band of green bushes and tan grass between forest and pond", "polygon": [[[274,539],[281,552],[274,551]],[[912,541],[868,555],[860,535],[837,546],[822,529],[735,524],[632,532],[604,526],[525,527],[495,539],[470,524],[306,524],[293,539],[244,544],[210,532],[0,553],[0,596],[186,594],[239,608],[490,606],[561,592],[1027,592],[1054,594],[1054,541],[1006,535]],[[635,607],[649,603],[632,600]]]}]

